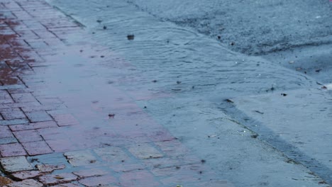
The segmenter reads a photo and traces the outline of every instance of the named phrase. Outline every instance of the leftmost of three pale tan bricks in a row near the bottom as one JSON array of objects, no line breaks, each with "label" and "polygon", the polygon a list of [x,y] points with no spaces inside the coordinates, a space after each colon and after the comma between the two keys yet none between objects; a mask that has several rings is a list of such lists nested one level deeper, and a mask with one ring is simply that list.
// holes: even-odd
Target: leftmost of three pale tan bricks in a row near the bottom
[{"label": "leftmost of three pale tan bricks in a row near the bottom", "polygon": [[96,157],[89,150],[66,152],[64,155],[72,166],[85,166],[98,163]]}]

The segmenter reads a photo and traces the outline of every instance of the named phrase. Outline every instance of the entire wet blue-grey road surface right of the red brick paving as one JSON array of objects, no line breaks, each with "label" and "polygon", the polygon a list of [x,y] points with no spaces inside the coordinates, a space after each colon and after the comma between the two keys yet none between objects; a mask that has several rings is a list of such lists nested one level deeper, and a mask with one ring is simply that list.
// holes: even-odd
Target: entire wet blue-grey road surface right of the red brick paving
[{"label": "entire wet blue-grey road surface right of the red brick paving", "polygon": [[[105,81],[223,179],[332,183],[330,2],[49,2],[135,67],[130,84]],[[139,98],[143,91],[171,97]]]}]

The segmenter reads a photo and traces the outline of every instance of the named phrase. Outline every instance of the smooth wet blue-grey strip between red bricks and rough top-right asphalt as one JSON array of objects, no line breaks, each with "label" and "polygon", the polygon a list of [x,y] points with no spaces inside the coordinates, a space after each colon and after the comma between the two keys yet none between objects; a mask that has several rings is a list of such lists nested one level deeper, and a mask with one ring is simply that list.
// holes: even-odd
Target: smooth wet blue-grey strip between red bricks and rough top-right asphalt
[{"label": "smooth wet blue-grey strip between red bricks and rough top-right asphalt", "polygon": [[[141,79],[135,79],[139,84],[121,83],[118,86],[135,93],[131,95],[137,103],[146,107],[145,111],[184,145],[201,157],[209,158],[208,163],[219,176],[236,186],[307,183],[309,176],[291,177],[292,169],[286,169],[300,163],[311,169],[307,174],[313,172],[326,181],[331,180],[331,161],[328,156],[322,156],[331,153],[328,147],[331,129],[327,125],[331,119],[331,92],[321,89],[321,80],[296,68],[232,52],[220,41],[193,28],[152,16],[145,11],[148,8],[140,4],[126,1],[50,3],[82,23],[89,33],[94,33],[94,40],[104,43],[135,66],[140,72]],[[127,40],[127,35],[135,37]],[[140,98],[136,94],[138,91],[172,94],[172,97]],[[289,101],[293,92],[297,100]],[[316,95],[316,100],[308,103],[307,97],[312,94]],[[240,102],[251,95],[261,98],[264,105],[273,106],[269,108],[270,112]],[[305,113],[303,105],[308,105]],[[232,109],[234,106],[236,111]],[[290,106],[294,108],[291,111]],[[326,114],[316,115],[316,110],[324,110]],[[251,111],[255,115],[250,115]],[[240,118],[243,115],[247,116],[246,123]],[[268,115],[267,121],[257,115]],[[310,125],[304,124],[301,129],[292,125],[302,124],[306,115],[312,118],[310,124],[319,127],[312,137],[306,136],[313,128]],[[279,121],[280,118],[283,119],[281,124],[270,124],[270,120]],[[283,133],[289,137],[281,136]],[[293,140],[295,137],[300,140]],[[299,147],[297,142],[303,142],[303,145]],[[313,146],[326,152],[314,153]],[[289,152],[289,147],[293,152]],[[271,166],[272,163],[276,165]],[[281,177],[289,181],[280,181]]]}]

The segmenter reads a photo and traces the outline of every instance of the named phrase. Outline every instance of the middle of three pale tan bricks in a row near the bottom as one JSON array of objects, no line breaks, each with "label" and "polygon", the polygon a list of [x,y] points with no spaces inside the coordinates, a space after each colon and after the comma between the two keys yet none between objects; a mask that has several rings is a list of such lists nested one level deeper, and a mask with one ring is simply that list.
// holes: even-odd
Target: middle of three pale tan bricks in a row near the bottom
[{"label": "middle of three pale tan bricks in a row near the bottom", "polygon": [[120,147],[101,147],[94,149],[104,162],[128,162],[131,158]]}]

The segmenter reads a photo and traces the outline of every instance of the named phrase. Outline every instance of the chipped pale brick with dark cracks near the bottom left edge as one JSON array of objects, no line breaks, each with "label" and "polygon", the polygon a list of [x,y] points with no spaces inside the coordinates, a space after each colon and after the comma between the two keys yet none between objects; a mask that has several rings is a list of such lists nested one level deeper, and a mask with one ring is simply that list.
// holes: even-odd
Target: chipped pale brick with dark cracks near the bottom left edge
[{"label": "chipped pale brick with dark cracks near the bottom left edge", "polygon": [[49,174],[39,177],[39,181],[44,185],[56,185],[59,183],[68,183],[70,181],[76,181],[78,179],[74,174]]}]

